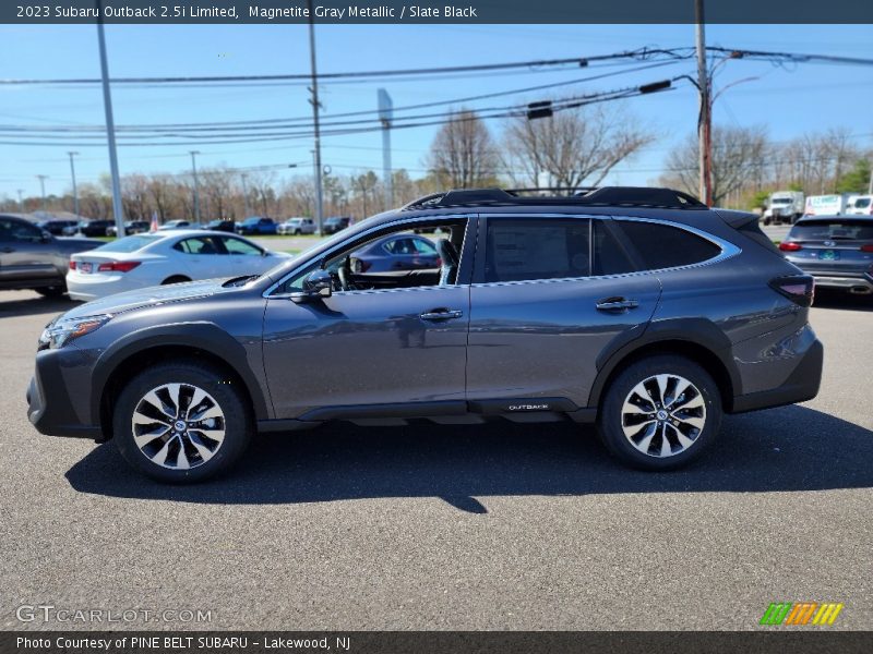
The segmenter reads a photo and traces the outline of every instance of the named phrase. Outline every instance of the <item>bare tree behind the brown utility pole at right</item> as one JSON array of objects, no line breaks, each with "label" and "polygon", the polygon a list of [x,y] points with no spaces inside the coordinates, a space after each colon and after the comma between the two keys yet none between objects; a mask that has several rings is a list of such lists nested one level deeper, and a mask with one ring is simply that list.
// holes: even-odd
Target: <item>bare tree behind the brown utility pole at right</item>
[{"label": "bare tree behind the brown utility pole at right", "polygon": [[[746,184],[751,185],[768,149],[764,128],[714,128],[713,202],[722,204],[729,194],[742,190]],[[661,183],[696,194],[696,134],[670,152]]]}]

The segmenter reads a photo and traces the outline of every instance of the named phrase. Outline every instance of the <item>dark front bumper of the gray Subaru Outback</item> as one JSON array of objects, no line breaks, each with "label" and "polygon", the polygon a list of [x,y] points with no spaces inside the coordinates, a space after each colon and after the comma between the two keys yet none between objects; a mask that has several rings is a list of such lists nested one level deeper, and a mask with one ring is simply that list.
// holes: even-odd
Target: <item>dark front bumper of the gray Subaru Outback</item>
[{"label": "dark front bumper of the gray Subaru Outback", "polygon": [[87,376],[77,379],[83,368],[89,371],[91,366],[74,347],[37,353],[36,371],[27,388],[27,419],[40,434],[103,439],[100,426],[88,419],[87,398],[70,396],[70,388],[89,389]]}]

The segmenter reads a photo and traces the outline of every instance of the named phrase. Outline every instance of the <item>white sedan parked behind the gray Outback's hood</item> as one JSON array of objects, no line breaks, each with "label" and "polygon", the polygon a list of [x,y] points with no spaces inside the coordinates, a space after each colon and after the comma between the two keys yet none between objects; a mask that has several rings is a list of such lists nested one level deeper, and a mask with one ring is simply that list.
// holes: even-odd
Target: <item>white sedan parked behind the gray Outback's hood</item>
[{"label": "white sedan parked behind the gray Outback's hood", "polygon": [[291,255],[218,231],[172,230],[124,237],[70,257],[73,300],[165,283],[260,275]]}]

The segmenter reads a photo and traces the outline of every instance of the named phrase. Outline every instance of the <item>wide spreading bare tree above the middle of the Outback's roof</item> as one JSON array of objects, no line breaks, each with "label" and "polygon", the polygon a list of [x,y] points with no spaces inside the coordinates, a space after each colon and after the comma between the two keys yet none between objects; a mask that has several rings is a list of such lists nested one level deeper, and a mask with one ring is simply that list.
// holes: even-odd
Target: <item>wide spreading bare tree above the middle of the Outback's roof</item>
[{"label": "wide spreading bare tree above the middle of the Outback's roof", "polygon": [[509,119],[503,161],[516,185],[538,186],[546,173],[560,189],[596,186],[654,140],[621,109],[578,107],[538,120]]}]

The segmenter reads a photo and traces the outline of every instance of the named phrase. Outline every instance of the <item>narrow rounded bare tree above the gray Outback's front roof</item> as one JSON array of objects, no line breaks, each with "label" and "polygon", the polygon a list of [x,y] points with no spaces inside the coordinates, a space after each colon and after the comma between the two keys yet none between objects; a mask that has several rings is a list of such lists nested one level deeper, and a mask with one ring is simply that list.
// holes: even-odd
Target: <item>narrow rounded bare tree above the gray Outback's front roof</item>
[{"label": "narrow rounded bare tree above the gray Outback's front roof", "polygon": [[468,109],[450,114],[433,138],[428,167],[443,187],[470,189],[497,183],[499,160],[491,133]]}]

